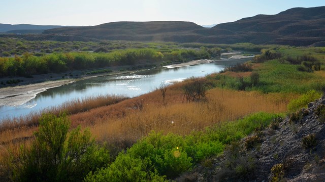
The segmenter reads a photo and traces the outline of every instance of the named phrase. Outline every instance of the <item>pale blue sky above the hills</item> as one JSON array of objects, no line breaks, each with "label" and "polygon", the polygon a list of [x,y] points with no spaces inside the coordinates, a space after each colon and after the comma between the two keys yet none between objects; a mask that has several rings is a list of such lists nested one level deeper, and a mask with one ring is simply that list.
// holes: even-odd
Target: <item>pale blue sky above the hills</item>
[{"label": "pale blue sky above the hills", "polygon": [[0,23],[99,25],[115,21],[233,22],[295,7],[325,6],[324,0],[1,0]]}]

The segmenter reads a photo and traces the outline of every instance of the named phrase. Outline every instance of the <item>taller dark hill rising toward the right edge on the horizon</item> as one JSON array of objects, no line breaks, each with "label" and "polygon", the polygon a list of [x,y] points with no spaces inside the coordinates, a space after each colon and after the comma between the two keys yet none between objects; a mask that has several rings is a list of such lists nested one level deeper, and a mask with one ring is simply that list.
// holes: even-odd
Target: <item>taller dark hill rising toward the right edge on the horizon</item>
[{"label": "taller dark hill rising toward the right edge on the horizon", "polygon": [[293,8],[212,27],[200,42],[310,45],[325,41],[325,7]]}]

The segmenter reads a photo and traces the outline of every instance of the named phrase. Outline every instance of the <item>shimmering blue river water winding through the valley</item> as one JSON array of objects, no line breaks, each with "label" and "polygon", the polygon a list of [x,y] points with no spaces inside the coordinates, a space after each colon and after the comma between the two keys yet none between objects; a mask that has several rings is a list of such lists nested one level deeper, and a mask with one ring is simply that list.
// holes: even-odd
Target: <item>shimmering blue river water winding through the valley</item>
[{"label": "shimmering blue river water winding through the valley", "polygon": [[151,92],[158,88],[161,83],[172,84],[174,81],[182,81],[192,76],[202,77],[219,72],[227,65],[247,60],[217,60],[214,63],[193,66],[149,69],[131,74],[89,78],[50,88],[21,106],[2,106],[0,107],[0,119],[26,115],[47,107],[61,105],[69,100],[84,99],[91,96],[123,95],[136,97]]}]

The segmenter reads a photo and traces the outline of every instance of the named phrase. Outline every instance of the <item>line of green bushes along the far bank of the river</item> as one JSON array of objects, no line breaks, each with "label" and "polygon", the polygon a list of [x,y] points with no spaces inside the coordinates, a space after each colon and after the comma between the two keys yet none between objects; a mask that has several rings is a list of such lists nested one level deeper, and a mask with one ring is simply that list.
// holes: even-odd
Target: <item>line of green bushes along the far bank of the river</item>
[{"label": "line of green bushes along the far bank of the river", "polygon": [[147,63],[163,60],[186,62],[194,59],[207,59],[215,54],[219,54],[219,52],[205,48],[200,50],[174,49],[164,53],[149,48],[116,50],[109,53],[53,53],[43,56],[24,53],[22,56],[0,57],[0,77],[31,76],[89,68],[136,65],[144,61]]}]

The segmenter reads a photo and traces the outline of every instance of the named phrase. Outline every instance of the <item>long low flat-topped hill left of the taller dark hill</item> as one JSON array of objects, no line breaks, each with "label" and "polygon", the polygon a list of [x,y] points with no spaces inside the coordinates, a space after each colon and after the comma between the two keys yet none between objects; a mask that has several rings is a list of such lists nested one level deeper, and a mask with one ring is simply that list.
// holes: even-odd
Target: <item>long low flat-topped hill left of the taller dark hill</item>
[{"label": "long low flat-topped hill left of the taller dark hill", "polygon": [[55,28],[44,31],[44,34],[109,40],[194,42],[202,36],[195,31],[204,29],[195,23],[181,21],[112,22],[89,27]]}]

